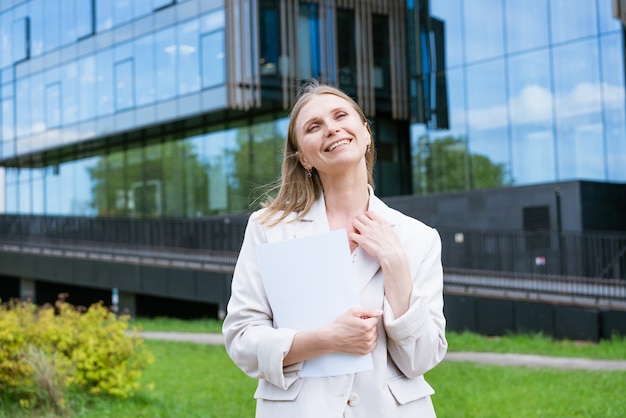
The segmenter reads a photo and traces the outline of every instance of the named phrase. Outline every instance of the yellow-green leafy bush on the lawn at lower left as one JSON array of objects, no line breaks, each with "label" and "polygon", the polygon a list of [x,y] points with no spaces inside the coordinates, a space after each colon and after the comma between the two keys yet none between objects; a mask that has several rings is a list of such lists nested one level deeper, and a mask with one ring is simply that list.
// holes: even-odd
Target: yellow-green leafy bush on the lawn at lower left
[{"label": "yellow-green leafy bush on the lawn at lower left", "polygon": [[66,389],[133,396],[152,355],[127,332],[129,319],[102,303],[88,309],[63,299],[55,306],[1,304],[0,395],[57,411],[64,408]]}]

